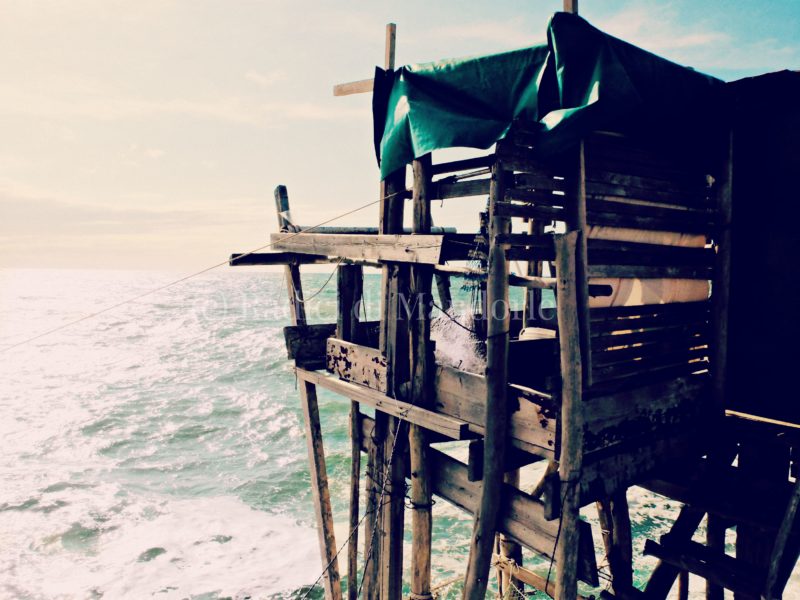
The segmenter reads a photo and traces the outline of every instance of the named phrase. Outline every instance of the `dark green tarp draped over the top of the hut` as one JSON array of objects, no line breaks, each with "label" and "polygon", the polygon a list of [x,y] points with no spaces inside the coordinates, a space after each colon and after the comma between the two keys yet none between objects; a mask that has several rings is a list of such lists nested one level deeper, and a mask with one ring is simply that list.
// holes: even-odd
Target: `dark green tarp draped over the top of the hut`
[{"label": "dark green tarp draped over the top of the hut", "polygon": [[441,148],[489,148],[516,119],[535,127],[543,154],[608,127],[702,139],[722,85],[577,15],[556,13],[547,44],[377,69],[373,119],[381,177]]}]

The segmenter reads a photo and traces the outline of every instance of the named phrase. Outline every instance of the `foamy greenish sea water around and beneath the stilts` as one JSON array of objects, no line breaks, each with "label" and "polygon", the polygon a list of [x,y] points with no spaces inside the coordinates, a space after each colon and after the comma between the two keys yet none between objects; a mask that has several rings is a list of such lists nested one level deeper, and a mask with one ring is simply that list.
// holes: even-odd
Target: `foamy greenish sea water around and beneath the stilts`
[{"label": "foamy greenish sea water around and beneath the stilts", "polygon": [[[0,270],[0,347],[175,275]],[[303,283],[307,295],[322,290],[307,303],[309,320],[334,321],[335,278]],[[370,319],[378,288],[367,276]],[[454,290],[458,318],[469,295]],[[288,323],[282,274],[223,269],[0,354],[0,597],[321,598],[311,588],[321,561]],[[449,341],[449,359],[459,360],[458,347]],[[349,402],[320,391],[319,408],[342,545]],[[445,449],[465,455],[463,444]],[[637,489],[629,499],[642,583],[653,566],[640,556],[643,536],[665,533],[679,507]],[[463,574],[472,523],[443,500],[433,512],[441,583]],[[597,527],[595,544],[602,556]],[[701,597],[702,582],[692,586]],[[785,597],[796,589],[793,580]],[[458,584],[441,595],[458,597]]]}]

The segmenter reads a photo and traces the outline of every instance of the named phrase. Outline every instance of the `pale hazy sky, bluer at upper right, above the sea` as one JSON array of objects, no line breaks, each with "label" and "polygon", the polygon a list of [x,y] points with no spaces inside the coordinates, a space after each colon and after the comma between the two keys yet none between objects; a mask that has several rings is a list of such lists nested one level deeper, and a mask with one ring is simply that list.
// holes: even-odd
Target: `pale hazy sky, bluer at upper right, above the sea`
[{"label": "pale hazy sky, bluer at upper right, above the sea", "polygon": [[[377,198],[383,63],[544,41],[561,0],[0,0],[0,267],[200,269]],[[612,35],[726,80],[800,68],[797,0],[581,0]],[[475,229],[477,205],[436,206]],[[372,207],[338,222],[375,225]]]}]

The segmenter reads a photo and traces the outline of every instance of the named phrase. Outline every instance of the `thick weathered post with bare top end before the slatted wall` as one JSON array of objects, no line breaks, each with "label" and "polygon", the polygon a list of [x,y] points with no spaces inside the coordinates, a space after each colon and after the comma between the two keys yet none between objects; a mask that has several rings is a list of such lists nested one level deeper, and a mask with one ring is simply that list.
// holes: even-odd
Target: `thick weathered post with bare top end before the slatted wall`
[{"label": "thick weathered post with bare top end before the slatted wall", "polygon": [[555,550],[556,591],[559,600],[578,594],[578,522],[580,521],[580,474],[583,460],[583,368],[576,290],[576,247],[580,233],[557,235],[556,310],[561,359],[561,524]]}]

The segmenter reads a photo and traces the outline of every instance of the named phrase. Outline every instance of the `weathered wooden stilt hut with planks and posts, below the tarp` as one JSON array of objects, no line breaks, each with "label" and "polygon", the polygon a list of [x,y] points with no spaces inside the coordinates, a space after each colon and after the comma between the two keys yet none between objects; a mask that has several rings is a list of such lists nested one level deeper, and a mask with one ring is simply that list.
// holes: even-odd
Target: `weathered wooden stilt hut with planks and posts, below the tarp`
[{"label": "weathered wooden stilt hut with planks and posts, below the tarp", "polygon": [[[564,10],[577,12],[577,0]],[[396,28],[386,34],[384,64],[393,69]],[[373,86],[356,81],[334,93]],[[381,182],[374,228],[298,227],[279,186],[272,252],[231,258],[285,265],[292,309],[285,336],[326,598],[341,598],[342,585],[318,386],[349,400],[350,600],[359,591],[365,599],[402,598],[404,590],[412,600],[434,597],[438,499],[474,518],[460,574],[470,600],[493,592],[492,569],[502,593],[527,586],[557,600],[664,600],[673,590],[683,599],[690,573],[706,580],[709,600],[724,590],[777,600],[800,555],[800,484],[788,476],[800,426],[728,410],[732,138],[719,140],[719,156],[703,158],[622,131],[588,131],[543,158],[537,139],[515,121],[485,156],[439,163],[417,156],[410,186],[405,167]],[[432,202],[473,196],[489,199],[477,233],[433,227]],[[513,226],[522,222],[524,229]],[[512,274],[513,261],[526,272]],[[310,324],[300,265],[325,263],[338,269],[337,320]],[[378,323],[360,317],[364,267],[380,269]],[[439,308],[448,311],[456,277],[482,286],[481,314],[474,323],[442,318],[485,347],[482,372],[445,364],[431,339],[434,281]],[[699,286],[704,295],[622,301],[615,291],[653,281]],[[525,290],[522,310],[511,305],[512,287]],[[553,293],[555,310],[544,307]],[[466,462],[437,446],[467,440]],[[547,467],[528,493],[520,470],[538,461]],[[631,486],[683,504],[671,530],[644,544],[658,560],[642,589],[633,576]],[[742,498],[742,489],[753,489],[755,500]],[[590,505],[599,530],[581,517]],[[725,545],[733,527],[736,556]],[[611,574],[602,591],[598,534]],[[523,565],[523,550],[548,569]]]}]

